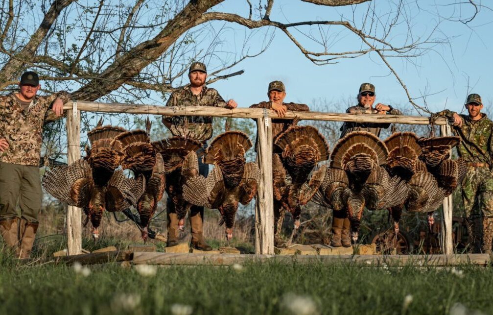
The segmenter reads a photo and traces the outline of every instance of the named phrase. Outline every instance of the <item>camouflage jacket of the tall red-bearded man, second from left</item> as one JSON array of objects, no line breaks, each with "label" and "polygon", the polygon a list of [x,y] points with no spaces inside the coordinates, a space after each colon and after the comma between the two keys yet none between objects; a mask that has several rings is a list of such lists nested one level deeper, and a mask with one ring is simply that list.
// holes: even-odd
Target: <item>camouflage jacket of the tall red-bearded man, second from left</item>
[{"label": "camouflage jacket of the tall red-bearded man, second from left", "polygon": [[[217,90],[204,86],[199,95],[190,91],[190,85],[171,94],[166,106],[215,106],[226,107]],[[186,117],[186,119],[185,119]],[[205,142],[212,137],[211,116],[163,116],[163,123],[171,123],[173,136],[182,136]]]}]

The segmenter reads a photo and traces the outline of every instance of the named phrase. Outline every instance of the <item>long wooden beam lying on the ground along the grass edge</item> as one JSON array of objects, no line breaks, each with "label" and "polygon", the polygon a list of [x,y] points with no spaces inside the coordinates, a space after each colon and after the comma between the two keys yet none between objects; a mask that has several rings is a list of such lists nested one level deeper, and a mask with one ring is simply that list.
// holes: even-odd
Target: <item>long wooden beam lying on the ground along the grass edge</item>
[{"label": "long wooden beam lying on the ground along the grass edge", "polygon": [[228,266],[241,263],[299,263],[299,264],[337,264],[359,263],[363,266],[455,266],[481,265],[491,263],[489,254],[457,254],[457,255],[243,255],[243,254],[193,254],[193,253],[160,253],[134,252],[131,257],[133,264],[154,265],[218,265]]}]

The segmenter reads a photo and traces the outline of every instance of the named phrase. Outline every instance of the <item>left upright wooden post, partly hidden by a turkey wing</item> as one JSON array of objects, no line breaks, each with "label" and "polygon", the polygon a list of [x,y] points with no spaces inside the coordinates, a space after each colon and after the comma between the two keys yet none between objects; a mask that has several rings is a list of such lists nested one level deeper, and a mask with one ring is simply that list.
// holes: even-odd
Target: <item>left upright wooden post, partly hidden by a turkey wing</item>
[{"label": "left upright wooden post, partly hidden by a turkey wing", "polygon": [[[67,111],[67,162],[80,159],[80,110]],[[82,209],[69,206],[67,209],[67,253],[82,253]]]}]

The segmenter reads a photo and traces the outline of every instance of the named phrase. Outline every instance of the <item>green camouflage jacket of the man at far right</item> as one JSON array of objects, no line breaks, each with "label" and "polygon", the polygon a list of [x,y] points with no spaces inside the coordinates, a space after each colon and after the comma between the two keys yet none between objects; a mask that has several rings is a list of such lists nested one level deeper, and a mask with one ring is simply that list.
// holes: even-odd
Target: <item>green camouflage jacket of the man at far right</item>
[{"label": "green camouflage jacket of the man at far right", "polygon": [[[445,109],[436,114],[446,117],[449,121],[453,120],[454,112]],[[480,113],[483,117],[473,121],[469,115],[459,116],[462,118],[462,126],[453,126],[454,134],[459,136],[461,141],[457,147],[460,157],[467,162],[488,163],[492,165],[493,158],[493,122],[488,119],[486,114]]]}]

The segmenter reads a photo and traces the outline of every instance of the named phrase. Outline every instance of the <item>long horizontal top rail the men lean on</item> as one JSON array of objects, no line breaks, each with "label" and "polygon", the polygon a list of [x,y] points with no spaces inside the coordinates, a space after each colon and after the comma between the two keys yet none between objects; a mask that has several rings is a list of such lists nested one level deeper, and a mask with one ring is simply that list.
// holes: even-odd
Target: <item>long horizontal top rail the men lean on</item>
[{"label": "long horizontal top rail the men lean on", "polygon": [[[214,116],[232,118],[263,118],[262,108],[235,108],[227,109],[210,106],[176,106],[166,107],[162,105],[129,105],[121,103],[99,103],[77,101],[79,110],[94,112],[128,113],[128,114],[151,114],[151,115],[170,115],[170,116]],[[64,109],[71,109],[72,103],[67,103]],[[350,122],[373,122],[373,123],[397,123],[411,125],[428,125],[429,120],[426,116],[396,116],[381,114],[347,114],[347,113],[326,113],[317,111],[287,111],[285,117],[281,119],[293,119],[294,117],[308,120],[325,121],[350,121]],[[267,117],[278,118],[272,109],[267,111]],[[45,121],[53,120],[53,114],[48,113]],[[435,125],[446,124],[445,118],[438,118]]]}]

